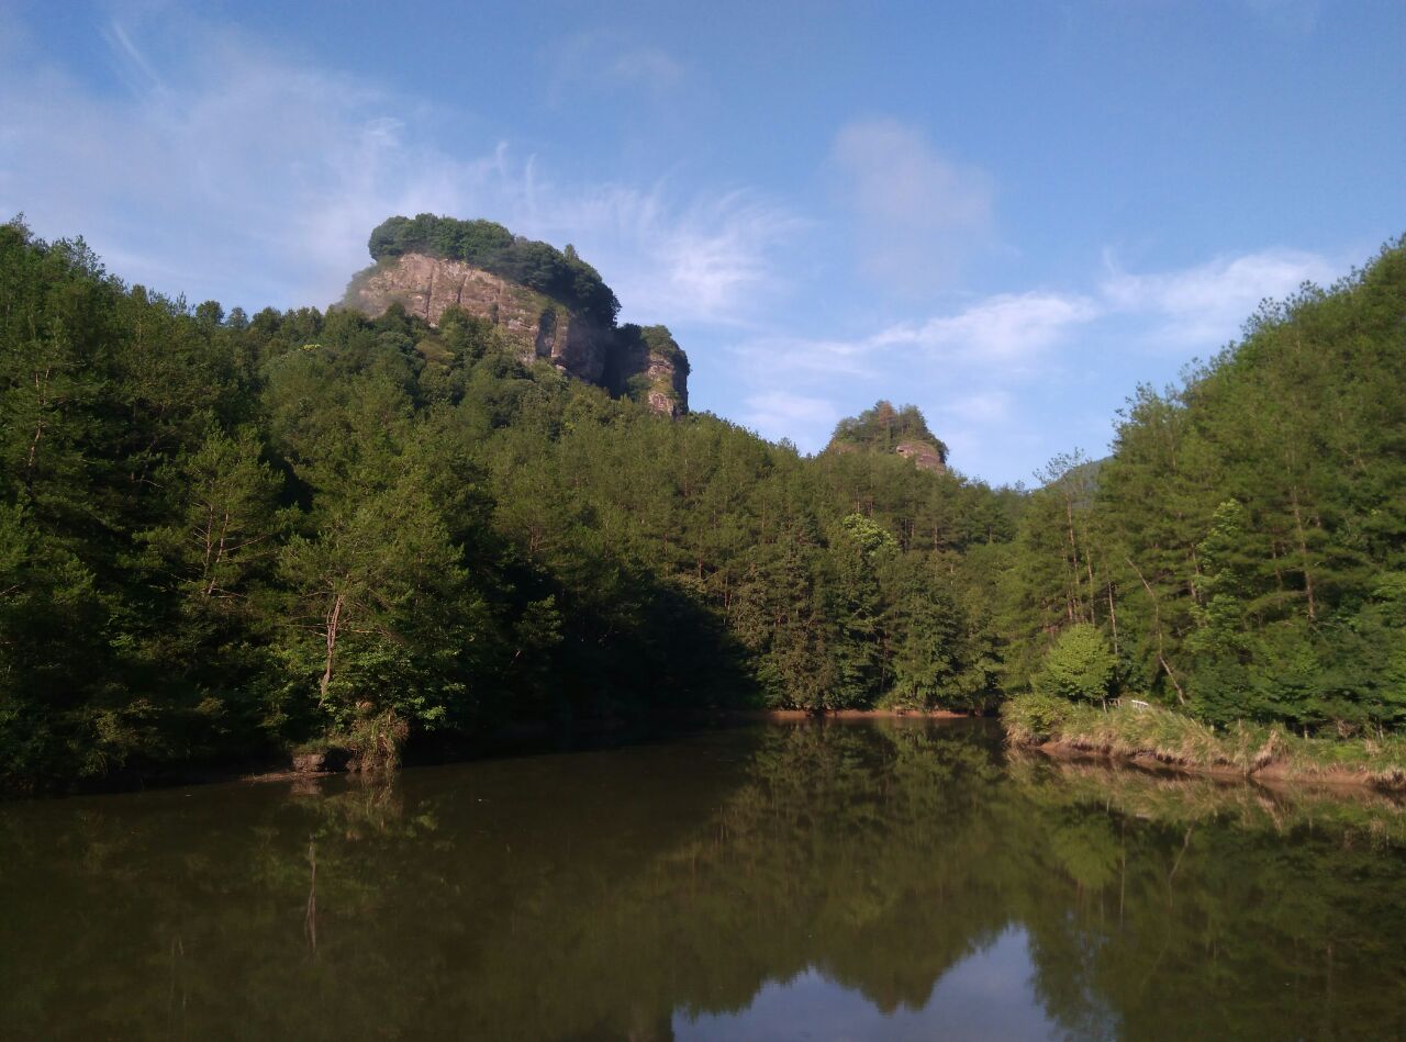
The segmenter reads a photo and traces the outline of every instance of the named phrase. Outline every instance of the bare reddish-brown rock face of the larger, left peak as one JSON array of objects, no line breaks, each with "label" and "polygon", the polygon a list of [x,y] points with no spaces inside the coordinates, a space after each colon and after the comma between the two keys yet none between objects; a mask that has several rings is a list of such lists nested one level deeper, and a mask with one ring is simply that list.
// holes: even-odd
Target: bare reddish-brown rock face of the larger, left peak
[{"label": "bare reddish-brown rock face of the larger, left peak", "polygon": [[607,326],[491,271],[425,253],[382,260],[357,276],[343,300],[371,316],[396,302],[432,326],[446,309],[463,308],[502,329],[523,361],[550,360],[668,416],[688,412],[688,359],[664,326]]}]

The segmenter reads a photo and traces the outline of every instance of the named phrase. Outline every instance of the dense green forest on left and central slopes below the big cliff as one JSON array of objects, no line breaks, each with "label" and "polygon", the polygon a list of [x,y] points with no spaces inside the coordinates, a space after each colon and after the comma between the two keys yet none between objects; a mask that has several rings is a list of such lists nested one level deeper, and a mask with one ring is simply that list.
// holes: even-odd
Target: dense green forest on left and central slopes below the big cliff
[{"label": "dense green forest on left and central slopes below the big cliff", "polygon": [[963,551],[1011,495],[669,422],[463,312],[190,309],[11,224],[0,388],[11,780],[997,696]]}]

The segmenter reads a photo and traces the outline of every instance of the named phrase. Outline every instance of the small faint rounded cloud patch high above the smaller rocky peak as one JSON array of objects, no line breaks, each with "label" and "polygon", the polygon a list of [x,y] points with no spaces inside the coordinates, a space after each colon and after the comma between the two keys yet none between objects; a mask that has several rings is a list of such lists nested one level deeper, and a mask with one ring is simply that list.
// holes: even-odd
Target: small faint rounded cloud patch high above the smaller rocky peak
[{"label": "small faint rounded cloud patch high above the smaller rocky peak", "polygon": [[853,122],[832,159],[853,208],[863,271],[903,292],[941,288],[991,225],[991,186],[896,120]]}]

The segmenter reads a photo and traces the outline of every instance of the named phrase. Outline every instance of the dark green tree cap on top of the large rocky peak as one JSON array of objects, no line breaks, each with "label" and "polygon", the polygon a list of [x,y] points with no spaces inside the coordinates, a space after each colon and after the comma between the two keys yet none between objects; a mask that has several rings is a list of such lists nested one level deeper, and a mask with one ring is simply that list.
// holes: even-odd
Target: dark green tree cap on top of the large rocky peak
[{"label": "dark green tree cap on top of the large rocky peak", "polygon": [[433,214],[392,217],[371,232],[368,247],[375,260],[402,253],[463,260],[537,290],[607,326],[620,312],[614,292],[575,249],[558,250],[546,242],[513,235],[492,221],[457,221]]}]

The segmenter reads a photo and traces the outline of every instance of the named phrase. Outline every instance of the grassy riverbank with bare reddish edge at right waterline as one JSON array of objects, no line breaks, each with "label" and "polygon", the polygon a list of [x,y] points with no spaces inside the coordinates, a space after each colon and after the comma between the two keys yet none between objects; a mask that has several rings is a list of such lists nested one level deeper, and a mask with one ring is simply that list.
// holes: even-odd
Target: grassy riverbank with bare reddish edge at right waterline
[{"label": "grassy riverbank with bare reddish edge at right waterline", "polygon": [[1211,778],[1406,792],[1406,738],[1305,738],[1277,724],[1215,728],[1157,706],[1107,710],[1039,695],[1001,707],[1011,745],[1053,757],[1174,768]]}]

